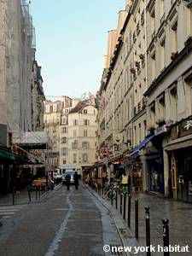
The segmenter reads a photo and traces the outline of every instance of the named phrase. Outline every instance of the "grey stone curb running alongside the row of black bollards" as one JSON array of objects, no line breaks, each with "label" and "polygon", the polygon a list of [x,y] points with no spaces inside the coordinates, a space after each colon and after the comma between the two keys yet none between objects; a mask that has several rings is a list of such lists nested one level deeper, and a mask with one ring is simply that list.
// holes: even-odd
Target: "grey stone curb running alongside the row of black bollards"
[{"label": "grey stone curb running alongside the row of black bollards", "polygon": [[[96,197],[98,201],[102,203],[104,207],[108,209],[108,212],[110,212],[110,217],[113,219],[113,224],[115,225],[117,232],[119,234],[120,241],[122,242],[123,247],[139,247],[139,244],[137,242],[137,239],[134,238],[131,230],[127,227],[125,220],[122,218],[121,214],[113,208],[111,205],[108,204],[107,201],[104,201],[97,193],[90,189],[90,187],[86,187],[90,191],[92,195]],[[127,253],[124,252],[127,256],[137,255],[137,256],[144,256],[143,253]]]}]

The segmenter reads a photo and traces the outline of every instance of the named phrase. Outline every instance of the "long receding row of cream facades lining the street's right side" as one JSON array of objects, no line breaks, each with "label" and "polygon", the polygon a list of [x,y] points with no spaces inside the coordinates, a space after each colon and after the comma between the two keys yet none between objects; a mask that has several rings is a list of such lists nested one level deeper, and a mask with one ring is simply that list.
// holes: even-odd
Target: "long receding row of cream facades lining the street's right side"
[{"label": "long receding row of cream facades lining the street's right side", "polygon": [[126,1],[97,93],[100,158],[129,172],[134,189],[185,201],[192,190],[191,6]]}]

